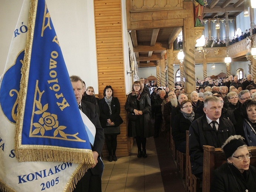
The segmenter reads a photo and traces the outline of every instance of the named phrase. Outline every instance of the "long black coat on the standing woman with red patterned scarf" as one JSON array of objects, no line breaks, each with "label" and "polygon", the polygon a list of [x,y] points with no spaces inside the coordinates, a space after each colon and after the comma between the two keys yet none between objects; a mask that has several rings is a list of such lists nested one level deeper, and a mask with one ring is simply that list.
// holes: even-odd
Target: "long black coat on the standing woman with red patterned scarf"
[{"label": "long black coat on the standing woman with red patterned scarf", "polygon": [[[143,129],[144,135],[137,135],[140,133],[140,131],[136,130],[138,128],[136,126],[136,121],[129,120],[128,122],[128,136],[129,137],[151,137],[154,135],[154,129],[151,123],[151,118],[149,113],[151,112],[151,103],[150,98],[147,93],[141,93],[140,100],[139,100],[140,110],[142,111],[142,115],[139,116],[139,128]],[[125,103],[125,109],[129,113],[133,113],[134,109],[138,109],[137,106],[137,99],[135,96],[132,96],[132,93],[130,93],[127,97],[126,103]]]}]

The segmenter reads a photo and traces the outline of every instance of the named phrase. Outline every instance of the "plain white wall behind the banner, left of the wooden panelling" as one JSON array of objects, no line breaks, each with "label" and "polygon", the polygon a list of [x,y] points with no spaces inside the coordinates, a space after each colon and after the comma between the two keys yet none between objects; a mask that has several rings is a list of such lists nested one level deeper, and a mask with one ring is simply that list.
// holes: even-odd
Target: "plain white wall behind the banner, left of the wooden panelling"
[{"label": "plain white wall behind the banner, left of the wooden panelling", "polygon": [[[75,3],[74,3],[75,2]],[[20,14],[22,0],[0,1],[0,74]],[[69,75],[79,75],[98,93],[93,0],[46,0]]]}]

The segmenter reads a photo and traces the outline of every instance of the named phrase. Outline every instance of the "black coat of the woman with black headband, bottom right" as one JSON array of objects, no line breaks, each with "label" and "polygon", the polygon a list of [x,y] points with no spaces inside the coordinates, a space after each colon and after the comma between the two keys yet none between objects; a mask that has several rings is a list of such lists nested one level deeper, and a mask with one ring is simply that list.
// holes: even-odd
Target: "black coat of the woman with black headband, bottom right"
[{"label": "black coat of the woman with black headband, bottom right", "polygon": [[210,192],[240,192],[256,191],[256,168],[252,165],[249,166],[247,171],[243,174],[231,164],[225,163],[214,171],[214,178],[211,183]]}]

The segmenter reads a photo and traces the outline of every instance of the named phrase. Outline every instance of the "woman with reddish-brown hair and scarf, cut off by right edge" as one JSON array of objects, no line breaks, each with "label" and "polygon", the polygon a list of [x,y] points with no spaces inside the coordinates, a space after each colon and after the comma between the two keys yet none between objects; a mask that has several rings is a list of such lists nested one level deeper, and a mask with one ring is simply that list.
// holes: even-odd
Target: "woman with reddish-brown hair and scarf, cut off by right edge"
[{"label": "woman with reddish-brown hair and scarf, cut off by right edge", "polygon": [[235,125],[236,134],[245,138],[248,146],[256,146],[256,101],[246,100],[242,104],[243,118]]}]

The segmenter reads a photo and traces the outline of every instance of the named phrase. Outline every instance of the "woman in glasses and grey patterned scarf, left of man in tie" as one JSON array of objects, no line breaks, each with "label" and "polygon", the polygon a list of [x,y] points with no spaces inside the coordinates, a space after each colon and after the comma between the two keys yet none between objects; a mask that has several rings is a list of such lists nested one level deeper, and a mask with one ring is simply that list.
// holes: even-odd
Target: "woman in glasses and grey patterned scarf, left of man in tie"
[{"label": "woman in glasses and grey patterned scarf, left of man in tie", "polygon": [[181,112],[175,116],[171,135],[173,136],[175,148],[178,151],[186,153],[186,131],[190,127],[192,121],[197,119],[199,114],[194,113],[191,100],[184,100],[180,104]]}]

